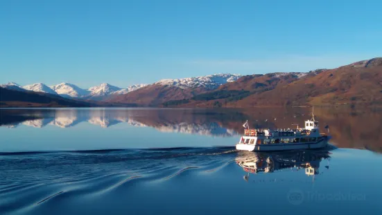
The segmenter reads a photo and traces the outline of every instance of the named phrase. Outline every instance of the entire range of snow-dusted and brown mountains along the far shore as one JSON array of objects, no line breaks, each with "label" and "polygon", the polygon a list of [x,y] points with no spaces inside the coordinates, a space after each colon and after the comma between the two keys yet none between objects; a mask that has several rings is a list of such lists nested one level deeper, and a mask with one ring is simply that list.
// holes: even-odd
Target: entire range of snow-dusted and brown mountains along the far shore
[{"label": "entire range of snow-dusted and brown mountains along the far shore", "polygon": [[[362,60],[336,69],[249,76],[215,74],[164,79],[150,85],[132,85],[126,88],[107,83],[88,89],[82,89],[71,83],[50,87],[43,83],[24,87],[8,83],[0,87],[18,91],[18,94],[36,92],[39,96],[43,94],[50,98],[55,96],[55,99],[63,97],[74,100],[75,103],[86,101],[88,105],[98,106],[382,105],[382,58]],[[6,101],[5,97],[10,98],[1,96],[0,103]]]}]

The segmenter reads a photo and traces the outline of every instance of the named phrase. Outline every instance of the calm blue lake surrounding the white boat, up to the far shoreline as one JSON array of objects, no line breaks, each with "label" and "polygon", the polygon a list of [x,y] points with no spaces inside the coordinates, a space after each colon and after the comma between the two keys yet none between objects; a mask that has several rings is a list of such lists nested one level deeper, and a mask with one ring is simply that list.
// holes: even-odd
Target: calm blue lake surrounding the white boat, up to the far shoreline
[{"label": "calm blue lake surrounding the white boat, up to the far shoreline", "polygon": [[234,148],[310,112],[0,109],[0,214],[382,214],[382,110],[315,108],[326,149]]}]

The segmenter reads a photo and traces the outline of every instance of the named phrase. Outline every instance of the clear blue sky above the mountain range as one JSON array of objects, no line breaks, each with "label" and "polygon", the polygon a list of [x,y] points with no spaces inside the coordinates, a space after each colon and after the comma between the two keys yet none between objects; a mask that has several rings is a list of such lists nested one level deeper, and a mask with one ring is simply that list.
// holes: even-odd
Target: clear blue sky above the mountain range
[{"label": "clear blue sky above the mountain range", "polygon": [[382,57],[382,1],[0,1],[0,83],[119,87]]}]

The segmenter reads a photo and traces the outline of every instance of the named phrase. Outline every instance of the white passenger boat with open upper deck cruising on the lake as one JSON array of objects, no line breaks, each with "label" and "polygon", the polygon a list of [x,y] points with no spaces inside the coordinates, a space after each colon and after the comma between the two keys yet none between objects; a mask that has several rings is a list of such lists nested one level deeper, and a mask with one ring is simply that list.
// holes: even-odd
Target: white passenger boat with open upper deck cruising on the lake
[{"label": "white passenger boat with open upper deck cruising on the lake", "polygon": [[244,135],[236,144],[237,150],[248,151],[273,151],[325,148],[329,137],[320,133],[318,121],[312,119],[305,121],[305,128],[297,129],[249,129],[248,121],[243,125]]}]

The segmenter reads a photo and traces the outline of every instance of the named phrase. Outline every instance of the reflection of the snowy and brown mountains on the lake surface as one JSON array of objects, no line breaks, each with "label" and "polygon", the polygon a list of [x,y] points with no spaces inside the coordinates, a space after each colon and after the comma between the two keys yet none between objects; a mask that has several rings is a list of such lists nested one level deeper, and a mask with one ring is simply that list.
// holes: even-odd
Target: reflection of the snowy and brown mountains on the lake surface
[{"label": "reflection of the snowy and brown mountains on the lake surface", "polygon": [[[309,118],[310,108],[225,109],[13,109],[0,110],[0,126],[58,126],[70,128],[79,123],[110,128],[120,123],[155,128],[160,132],[234,137],[251,128],[294,128]],[[382,111],[315,108],[320,126],[329,126],[331,144],[342,148],[382,151]],[[323,129],[322,129],[323,130]],[[323,130],[326,131],[326,130]],[[234,145],[235,143],[232,143]]]}]

